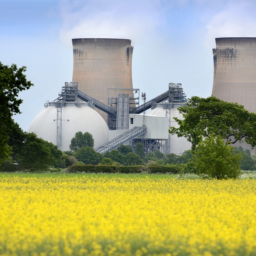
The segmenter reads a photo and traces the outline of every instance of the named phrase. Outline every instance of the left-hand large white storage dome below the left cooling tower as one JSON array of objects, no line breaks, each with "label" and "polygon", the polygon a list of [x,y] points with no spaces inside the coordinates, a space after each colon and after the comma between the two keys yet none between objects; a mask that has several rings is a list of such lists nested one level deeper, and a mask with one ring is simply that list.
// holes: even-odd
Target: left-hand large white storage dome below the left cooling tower
[{"label": "left-hand large white storage dome below the left cooling tower", "polygon": [[[57,143],[57,108],[49,106],[42,110],[32,121],[28,132],[38,137]],[[69,121],[65,121],[68,120]],[[55,121],[54,121],[55,120]],[[94,139],[94,148],[108,141],[109,129],[104,119],[89,106],[62,107],[62,143],[61,150],[69,149],[70,141],[76,132],[89,132]]]}]

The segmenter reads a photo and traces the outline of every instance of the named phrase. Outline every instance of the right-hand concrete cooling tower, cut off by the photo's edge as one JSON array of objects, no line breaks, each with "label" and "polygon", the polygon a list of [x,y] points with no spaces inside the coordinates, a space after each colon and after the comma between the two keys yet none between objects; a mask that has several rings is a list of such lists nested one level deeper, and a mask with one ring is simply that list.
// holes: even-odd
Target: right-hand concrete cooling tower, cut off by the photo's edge
[{"label": "right-hand concrete cooling tower, cut off by the photo's edge", "polygon": [[256,38],[216,38],[212,95],[256,112]]}]

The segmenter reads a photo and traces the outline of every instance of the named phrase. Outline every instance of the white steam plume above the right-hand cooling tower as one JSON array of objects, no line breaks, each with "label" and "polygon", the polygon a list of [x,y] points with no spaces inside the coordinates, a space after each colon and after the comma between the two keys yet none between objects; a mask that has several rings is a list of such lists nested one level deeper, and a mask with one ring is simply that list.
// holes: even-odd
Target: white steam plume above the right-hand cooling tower
[{"label": "white steam plume above the right-hand cooling tower", "polygon": [[215,48],[217,37],[256,37],[256,2],[228,1],[207,25],[206,47]]}]

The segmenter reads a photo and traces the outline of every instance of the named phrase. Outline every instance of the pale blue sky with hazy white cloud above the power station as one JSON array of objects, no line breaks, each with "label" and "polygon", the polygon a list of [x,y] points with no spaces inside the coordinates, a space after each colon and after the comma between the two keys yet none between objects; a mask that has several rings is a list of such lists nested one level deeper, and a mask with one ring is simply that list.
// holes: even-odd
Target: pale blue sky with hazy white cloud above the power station
[{"label": "pale blue sky with hazy white cloud above the power station", "polygon": [[147,99],[169,82],[208,97],[215,38],[256,37],[255,12],[253,0],[0,0],[0,61],[27,66],[34,83],[14,119],[27,131],[72,80],[72,38],[131,39],[133,87]]}]

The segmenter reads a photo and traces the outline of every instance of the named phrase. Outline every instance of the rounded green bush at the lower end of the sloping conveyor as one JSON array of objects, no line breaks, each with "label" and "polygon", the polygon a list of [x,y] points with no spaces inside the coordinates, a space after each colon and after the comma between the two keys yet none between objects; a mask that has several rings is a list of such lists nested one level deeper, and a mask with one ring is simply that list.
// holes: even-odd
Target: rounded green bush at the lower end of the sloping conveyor
[{"label": "rounded green bush at the lower end of the sloping conveyor", "polygon": [[78,148],[74,154],[78,161],[85,164],[99,164],[102,161],[102,154],[96,152],[91,147]]}]

